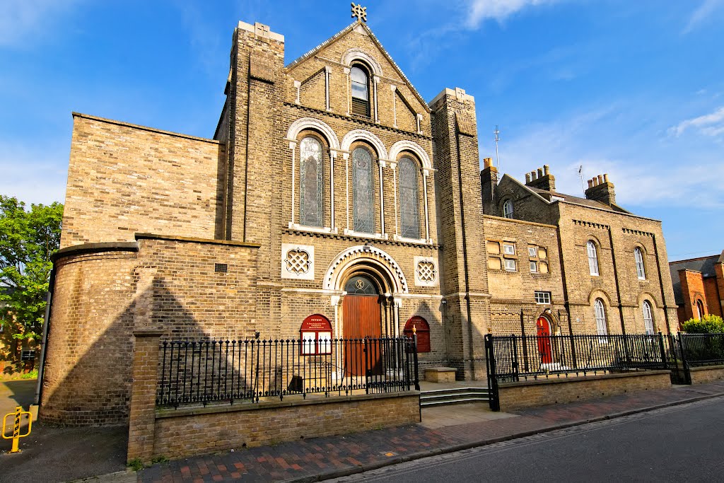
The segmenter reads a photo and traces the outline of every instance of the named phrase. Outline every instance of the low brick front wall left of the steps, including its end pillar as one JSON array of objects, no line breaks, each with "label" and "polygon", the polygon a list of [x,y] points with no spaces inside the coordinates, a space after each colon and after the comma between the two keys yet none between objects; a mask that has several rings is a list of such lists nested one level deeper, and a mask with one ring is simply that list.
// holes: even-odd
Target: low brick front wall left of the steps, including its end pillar
[{"label": "low brick front wall left of the steps, including its end pillar", "polygon": [[134,335],[127,461],[148,463],[157,456],[184,458],[420,422],[417,391],[156,409],[161,333]]}]

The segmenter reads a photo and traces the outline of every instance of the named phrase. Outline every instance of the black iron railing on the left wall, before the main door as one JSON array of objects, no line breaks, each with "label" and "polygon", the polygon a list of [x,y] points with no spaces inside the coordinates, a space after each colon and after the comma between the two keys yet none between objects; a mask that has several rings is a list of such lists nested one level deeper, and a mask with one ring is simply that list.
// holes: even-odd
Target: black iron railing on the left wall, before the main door
[{"label": "black iron railing on the left wall, before the main door", "polygon": [[160,350],[159,406],[420,389],[409,337],[170,340]]}]

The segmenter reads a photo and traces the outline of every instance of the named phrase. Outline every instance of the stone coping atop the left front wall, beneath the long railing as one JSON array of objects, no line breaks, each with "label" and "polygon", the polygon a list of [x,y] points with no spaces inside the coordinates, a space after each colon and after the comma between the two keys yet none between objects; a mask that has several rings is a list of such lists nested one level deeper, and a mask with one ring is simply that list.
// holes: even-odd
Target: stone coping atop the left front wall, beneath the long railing
[{"label": "stone coping atop the left front wall, beneath the long railing", "polygon": [[329,397],[324,397],[324,395],[321,394],[308,394],[307,399],[292,398],[290,400],[260,400],[258,403],[251,403],[251,401],[245,400],[242,403],[235,404],[219,403],[209,404],[206,406],[186,406],[177,409],[156,408],[156,419],[199,416],[201,414],[235,413],[237,411],[259,411],[264,409],[312,406],[315,404],[350,403],[361,400],[407,398],[410,396],[419,397],[419,395],[420,392],[416,390],[404,392],[382,392],[378,394],[352,394]]}]

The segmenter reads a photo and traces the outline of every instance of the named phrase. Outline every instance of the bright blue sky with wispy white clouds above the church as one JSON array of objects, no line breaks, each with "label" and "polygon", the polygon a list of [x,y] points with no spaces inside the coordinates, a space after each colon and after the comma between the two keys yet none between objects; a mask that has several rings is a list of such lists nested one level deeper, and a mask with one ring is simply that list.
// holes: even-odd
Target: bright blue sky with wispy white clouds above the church
[{"label": "bright blue sky with wispy white clouds above the church", "polygon": [[[476,98],[481,157],[550,164],[582,196],[663,222],[670,260],[724,249],[724,0],[369,1],[368,25],[428,101]],[[64,201],[73,111],[211,137],[232,30],[285,35],[287,64],[348,1],[0,2],[0,193]]]}]

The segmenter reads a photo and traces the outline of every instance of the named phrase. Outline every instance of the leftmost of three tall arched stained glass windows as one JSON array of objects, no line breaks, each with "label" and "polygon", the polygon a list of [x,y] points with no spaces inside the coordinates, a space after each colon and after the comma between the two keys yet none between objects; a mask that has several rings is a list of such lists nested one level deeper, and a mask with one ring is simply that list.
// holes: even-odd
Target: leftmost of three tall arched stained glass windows
[{"label": "leftmost of three tall arched stained glass windows", "polygon": [[322,226],[324,191],[321,143],[308,136],[299,147],[299,222],[308,227]]}]

